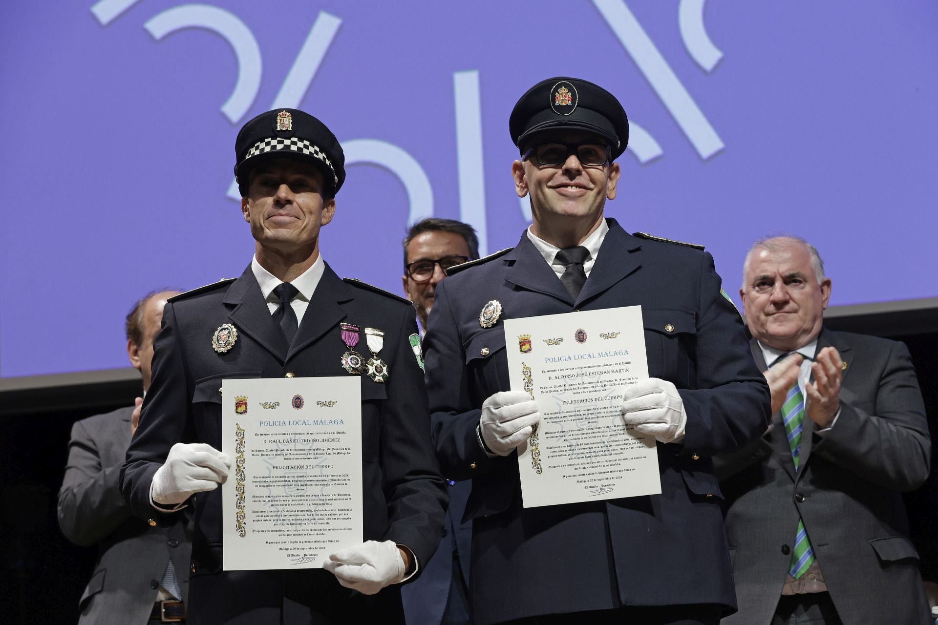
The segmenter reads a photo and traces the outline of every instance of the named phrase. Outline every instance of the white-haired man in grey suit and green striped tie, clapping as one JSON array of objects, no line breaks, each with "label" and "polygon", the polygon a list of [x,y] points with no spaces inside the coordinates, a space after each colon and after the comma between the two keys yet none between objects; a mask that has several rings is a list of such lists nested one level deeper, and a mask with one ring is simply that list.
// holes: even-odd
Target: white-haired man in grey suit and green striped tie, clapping
[{"label": "white-haired man in grey suit and green striped tie, clapping", "polygon": [[930,622],[900,495],[930,458],[909,350],[826,330],[830,290],[801,239],[749,250],[739,294],[774,414],[715,460],[739,603],[723,623]]}]

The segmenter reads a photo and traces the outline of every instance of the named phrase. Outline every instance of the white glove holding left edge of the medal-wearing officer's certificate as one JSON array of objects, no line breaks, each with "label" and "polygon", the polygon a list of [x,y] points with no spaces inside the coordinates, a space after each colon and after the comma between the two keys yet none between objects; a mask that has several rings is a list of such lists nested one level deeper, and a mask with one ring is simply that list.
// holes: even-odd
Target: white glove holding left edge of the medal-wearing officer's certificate
[{"label": "white glove holding left edge of the medal-wearing officer's certificate", "polygon": [[166,462],[153,474],[150,496],[156,503],[172,506],[205,490],[215,490],[228,479],[232,460],[228,454],[204,442],[177,442]]}]

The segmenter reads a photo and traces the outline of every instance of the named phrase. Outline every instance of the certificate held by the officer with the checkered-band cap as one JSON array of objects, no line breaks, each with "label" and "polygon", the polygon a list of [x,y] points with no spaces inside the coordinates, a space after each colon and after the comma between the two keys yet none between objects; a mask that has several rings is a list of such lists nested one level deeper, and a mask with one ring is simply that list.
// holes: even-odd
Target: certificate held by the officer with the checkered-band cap
[{"label": "certificate held by the officer with the checkered-band cap", "polygon": [[225,379],[223,568],[318,569],[362,542],[361,380]]}]

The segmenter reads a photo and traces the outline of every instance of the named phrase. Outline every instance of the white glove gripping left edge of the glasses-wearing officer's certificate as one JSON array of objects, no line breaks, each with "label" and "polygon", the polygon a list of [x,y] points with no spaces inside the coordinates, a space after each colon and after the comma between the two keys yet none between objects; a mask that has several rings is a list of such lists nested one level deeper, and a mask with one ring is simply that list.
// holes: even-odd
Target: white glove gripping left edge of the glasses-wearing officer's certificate
[{"label": "white glove gripping left edge of the glasses-wearing officer's certificate", "polygon": [[482,404],[479,436],[492,454],[507,455],[531,436],[540,421],[537,403],[522,391],[502,391]]}]

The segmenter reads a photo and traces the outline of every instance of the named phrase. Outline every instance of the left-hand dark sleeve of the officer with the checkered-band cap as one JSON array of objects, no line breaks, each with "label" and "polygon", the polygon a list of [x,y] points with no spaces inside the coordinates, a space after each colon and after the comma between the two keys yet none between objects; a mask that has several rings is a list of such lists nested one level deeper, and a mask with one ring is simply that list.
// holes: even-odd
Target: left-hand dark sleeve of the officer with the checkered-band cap
[{"label": "left-hand dark sleeve of the officer with the checkered-band cap", "polygon": [[173,303],[163,308],[162,329],[153,341],[153,379],[144,399],[140,424],[121,470],[120,488],[130,511],[144,519],[174,522],[174,513],[159,513],[150,503],[153,474],[177,442],[193,439],[186,365]]}]

